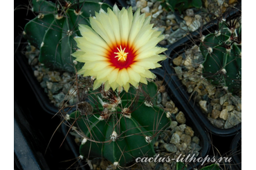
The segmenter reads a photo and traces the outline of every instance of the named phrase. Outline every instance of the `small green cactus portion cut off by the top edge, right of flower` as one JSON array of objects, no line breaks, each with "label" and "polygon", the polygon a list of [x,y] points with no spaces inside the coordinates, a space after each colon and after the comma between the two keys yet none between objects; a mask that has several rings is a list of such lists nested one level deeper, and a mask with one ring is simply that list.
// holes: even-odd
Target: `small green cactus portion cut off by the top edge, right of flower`
[{"label": "small green cactus portion cut off by the top edge, right of flower", "polygon": [[158,0],[161,1],[161,5],[166,10],[172,10],[175,9],[179,10],[179,12],[183,12],[184,10],[187,10],[188,8],[201,8],[202,7],[202,1],[201,0]]}]

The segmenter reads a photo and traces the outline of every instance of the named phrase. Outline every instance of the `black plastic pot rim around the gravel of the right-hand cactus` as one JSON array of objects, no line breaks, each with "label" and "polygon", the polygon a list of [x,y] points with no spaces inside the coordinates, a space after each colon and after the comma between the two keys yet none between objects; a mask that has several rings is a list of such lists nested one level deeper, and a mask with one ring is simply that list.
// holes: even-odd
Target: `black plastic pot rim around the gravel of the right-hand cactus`
[{"label": "black plastic pot rim around the gravel of the right-hand cactus", "polygon": [[[239,6],[241,6],[241,3],[239,4]],[[237,12],[238,10],[232,10],[228,16],[233,17]],[[224,16],[226,15],[224,14]],[[214,30],[216,30],[217,28],[216,23],[217,20],[209,23],[206,27],[202,29],[202,33],[205,35],[209,32],[214,32]],[[203,111],[201,111],[200,107],[195,104],[194,100],[191,98],[191,94],[188,94],[186,87],[181,83],[181,80],[176,75],[176,72],[172,67],[172,61],[179,55],[183,54],[185,52],[185,49],[188,49],[188,47],[192,47],[192,45],[196,43],[195,41],[192,41],[193,37],[196,36],[199,36],[198,31],[192,32],[190,36],[185,36],[183,39],[176,41],[176,43],[167,46],[167,56],[169,57],[163,62],[163,67],[167,74],[172,77],[171,82],[172,84],[174,84],[173,88],[181,93],[181,96],[183,96],[183,99],[186,101],[190,109],[192,109],[194,114],[196,114],[196,116],[199,118],[200,123],[203,125],[203,127],[205,127],[206,129],[208,129],[208,131],[217,136],[233,136],[237,134],[237,131],[241,129],[241,123],[230,129],[220,129],[214,127],[214,125],[210,123],[210,120],[208,120],[205,114],[203,114]]]}]

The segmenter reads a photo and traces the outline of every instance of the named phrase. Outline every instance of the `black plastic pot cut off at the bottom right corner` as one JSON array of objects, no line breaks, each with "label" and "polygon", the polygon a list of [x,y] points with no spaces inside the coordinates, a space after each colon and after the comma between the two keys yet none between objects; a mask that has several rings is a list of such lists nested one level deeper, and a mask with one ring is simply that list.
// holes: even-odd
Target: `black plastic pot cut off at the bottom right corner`
[{"label": "black plastic pot cut off at the bottom right corner", "polygon": [[232,160],[237,167],[237,169],[241,170],[241,131],[237,134],[232,141],[231,145],[232,151]]}]

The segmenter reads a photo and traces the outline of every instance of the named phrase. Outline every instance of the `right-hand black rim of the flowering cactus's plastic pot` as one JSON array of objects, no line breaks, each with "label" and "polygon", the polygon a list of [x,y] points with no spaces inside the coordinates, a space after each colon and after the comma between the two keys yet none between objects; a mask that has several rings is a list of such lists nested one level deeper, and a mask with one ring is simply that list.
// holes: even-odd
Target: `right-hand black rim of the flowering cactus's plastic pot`
[{"label": "right-hand black rim of the flowering cactus's plastic pot", "polygon": [[[164,81],[164,85],[166,85],[166,91],[170,95],[171,100],[175,103],[176,107],[179,108],[179,111],[183,111],[185,114],[185,118],[187,120],[186,125],[192,127],[195,132],[195,136],[199,137],[200,145],[202,147],[201,153],[199,157],[205,158],[210,151],[210,138],[206,133],[205,129],[201,127],[199,121],[196,116],[188,106],[188,103],[183,99],[181,94],[175,89],[174,84],[171,81],[171,77],[167,75],[167,73],[161,69],[157,68],[152,70],[154,74],[158,77],[158,80]],[[195,167],[198,167],[201,163],[194,164],[193,162],[188,164],[188,169],[192,170]]]}]

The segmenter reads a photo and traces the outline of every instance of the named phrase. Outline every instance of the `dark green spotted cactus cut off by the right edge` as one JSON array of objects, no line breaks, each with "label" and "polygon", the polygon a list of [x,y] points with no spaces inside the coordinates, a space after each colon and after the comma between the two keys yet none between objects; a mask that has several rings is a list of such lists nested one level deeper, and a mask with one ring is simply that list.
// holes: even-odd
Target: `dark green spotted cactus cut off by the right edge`
[{"label": "dark green spotted cactus cut off by the right edge", "polygon": [[212,85],[228,92],[241,90],[241,23],[219,22],[219,30],[203,37],[200,50],[205,59],[203,75]]}]

